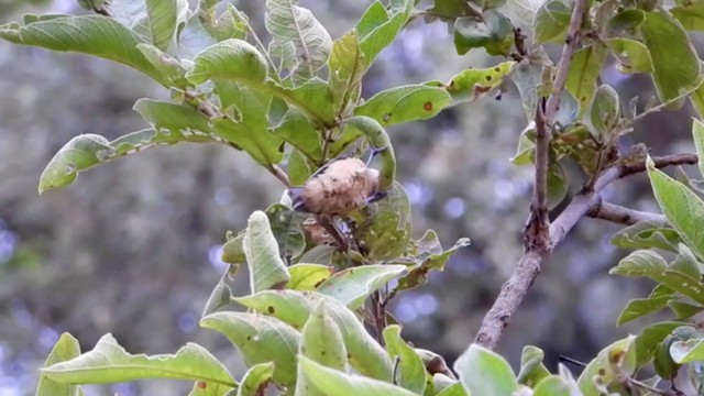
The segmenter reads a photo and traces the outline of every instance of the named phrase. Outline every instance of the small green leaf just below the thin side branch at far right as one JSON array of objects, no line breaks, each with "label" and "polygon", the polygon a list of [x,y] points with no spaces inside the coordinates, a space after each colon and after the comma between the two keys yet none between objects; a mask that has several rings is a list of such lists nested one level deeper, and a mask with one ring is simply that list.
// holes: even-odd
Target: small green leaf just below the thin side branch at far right
[{"label": "small green leaf just below the thin side branch at far right", "polygon": [[617,232],[610,242],[624,249],[650,249],[657,248],[670,252],[678,251],[680,237],[676,231],[669,228],[667,222],[658,223],[639,221]]}]

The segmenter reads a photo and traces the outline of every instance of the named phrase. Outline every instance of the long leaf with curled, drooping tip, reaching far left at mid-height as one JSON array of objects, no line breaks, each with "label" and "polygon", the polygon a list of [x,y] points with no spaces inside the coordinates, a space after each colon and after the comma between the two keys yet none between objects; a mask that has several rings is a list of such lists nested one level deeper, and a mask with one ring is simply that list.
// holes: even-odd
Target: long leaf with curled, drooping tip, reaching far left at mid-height
[{"label": "long leaf with curled, drooping tip, reaching far left at mid-height", "polygon": [[154,129],[145,129],[112,142],[97,134],[78,135],[66,143],[46,165],[40,177],[38,191],[43,194],[50,189],[67,186],[74,183],[78,174],[84,170],[145,148],[180,142],[215,142],[210,135],[196,133],[195,130],[183,132],[172,133],[168,130],[155,132]]}]

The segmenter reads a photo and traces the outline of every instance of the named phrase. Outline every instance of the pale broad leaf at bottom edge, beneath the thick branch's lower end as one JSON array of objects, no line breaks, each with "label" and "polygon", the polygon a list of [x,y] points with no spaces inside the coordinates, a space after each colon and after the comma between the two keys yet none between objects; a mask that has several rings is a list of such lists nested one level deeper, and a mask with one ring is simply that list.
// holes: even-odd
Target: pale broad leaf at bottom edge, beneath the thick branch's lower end
[{"label": "pale broad leaf at bottom edge, beneath the thick branch's lower end", "polygon": [[470,395],[512,396],[518,389],[508,362],[479,344],[473,343],[458,358],[454,371]]}]

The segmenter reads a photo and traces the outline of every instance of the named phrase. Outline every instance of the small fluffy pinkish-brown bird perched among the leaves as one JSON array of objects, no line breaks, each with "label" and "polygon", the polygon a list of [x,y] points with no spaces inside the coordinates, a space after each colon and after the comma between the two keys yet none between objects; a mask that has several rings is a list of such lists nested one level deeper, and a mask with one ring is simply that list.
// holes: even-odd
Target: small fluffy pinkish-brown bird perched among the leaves
[{"label": "small fluffy pinkish-brown bird perched among the leaves", "polygon": [[323,166],[288,194],[295,210],[340,216],[383,198],[377,188],[378,170],[359,158],[343,158]]}]

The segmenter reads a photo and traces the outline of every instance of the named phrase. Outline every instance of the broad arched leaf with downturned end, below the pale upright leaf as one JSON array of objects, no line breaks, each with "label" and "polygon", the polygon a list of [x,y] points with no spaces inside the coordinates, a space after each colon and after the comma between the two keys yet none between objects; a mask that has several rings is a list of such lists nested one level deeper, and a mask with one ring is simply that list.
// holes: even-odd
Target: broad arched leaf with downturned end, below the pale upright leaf
[{"label": "broad arched leaf with downturned end, below the pale upright leaf", "polygon": [[300,334],[283,321],[260,314],[222,311],[200,319],[200,326],[224,334],[238,348],[248,366],[274,362],[273,381],[282,386],[296,382],[296,353]]}]

